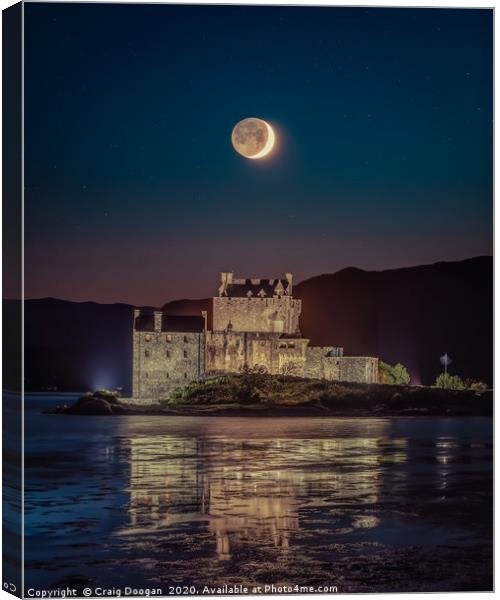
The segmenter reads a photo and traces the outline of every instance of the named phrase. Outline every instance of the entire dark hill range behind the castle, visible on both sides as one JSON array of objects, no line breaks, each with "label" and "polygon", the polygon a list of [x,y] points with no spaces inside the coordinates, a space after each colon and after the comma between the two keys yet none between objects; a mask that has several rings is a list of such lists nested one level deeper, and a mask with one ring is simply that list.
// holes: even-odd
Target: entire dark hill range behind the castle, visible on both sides
[{"label": "entire dark hill range behind the castle, visible on both sides", "polygon": [[[439,356],[448,352],[452,372],[493,381],[492,257],[388,271],[348,268],[299,283],[294,296],[303,301],[301,328],[313,344],[400,361],[423,383],[434,380]],[[18,307],[4,300],[4,322]],[[165,305],[173,315],[208,308],[206,299]],[[130,391],[132,320],[128,304],[27,300],[26,389]],[[4,385],[13,388],[5,375]]]}]

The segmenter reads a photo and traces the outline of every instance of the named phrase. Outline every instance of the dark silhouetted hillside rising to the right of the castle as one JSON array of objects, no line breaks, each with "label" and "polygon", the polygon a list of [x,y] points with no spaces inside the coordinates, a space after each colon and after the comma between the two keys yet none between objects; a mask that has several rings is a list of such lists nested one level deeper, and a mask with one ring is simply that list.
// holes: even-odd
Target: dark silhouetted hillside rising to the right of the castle
[{"label": "dark silhouetted hillside rising to the right of the castle", "polygon": [[493,380],[493,259],[471,258],[389,271],[344,269],[308,279],[301,327],[313,344],[407,365],[432,383],[448,352],[450,371]]}]

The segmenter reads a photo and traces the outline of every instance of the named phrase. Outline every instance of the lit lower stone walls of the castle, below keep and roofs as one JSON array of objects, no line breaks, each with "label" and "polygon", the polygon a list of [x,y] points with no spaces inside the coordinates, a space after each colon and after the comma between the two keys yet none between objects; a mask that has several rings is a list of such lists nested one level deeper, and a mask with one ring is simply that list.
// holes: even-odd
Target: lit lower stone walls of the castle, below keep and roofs
[{"label": "lit lower stone walls of the castle, below keep and roofs", "polygon": [[[206,344],[206,347],[205,347]],[[305,338],[251,332],[134,332],[133,397],[158,401],[175,388],[215,372],[245,367],[271,374],[330,381],[376,383],[378,359],[329,356],[332,347],[310,347]]]}]

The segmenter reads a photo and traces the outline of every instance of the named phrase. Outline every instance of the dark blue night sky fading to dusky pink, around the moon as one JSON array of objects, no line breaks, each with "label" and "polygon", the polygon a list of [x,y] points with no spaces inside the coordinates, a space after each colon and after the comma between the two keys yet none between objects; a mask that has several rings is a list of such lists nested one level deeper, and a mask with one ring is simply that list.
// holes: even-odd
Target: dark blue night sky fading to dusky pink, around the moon
[{"label": "dark blue night sky fading to dusky pink, around the moon", "polygon": [[25,43],[27,298],[492,253],[490,10],[27,4]]}]

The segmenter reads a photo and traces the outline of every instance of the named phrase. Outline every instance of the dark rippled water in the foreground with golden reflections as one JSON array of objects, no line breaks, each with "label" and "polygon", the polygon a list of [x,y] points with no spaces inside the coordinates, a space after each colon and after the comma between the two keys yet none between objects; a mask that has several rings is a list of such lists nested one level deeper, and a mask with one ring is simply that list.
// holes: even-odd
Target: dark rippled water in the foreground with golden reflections
[{"label": "dark rippled water in the foreground with golden reflections", "polygon": [[490,419],[40,414],[62,401],[26,404],[26,588],[491,589]]}]

